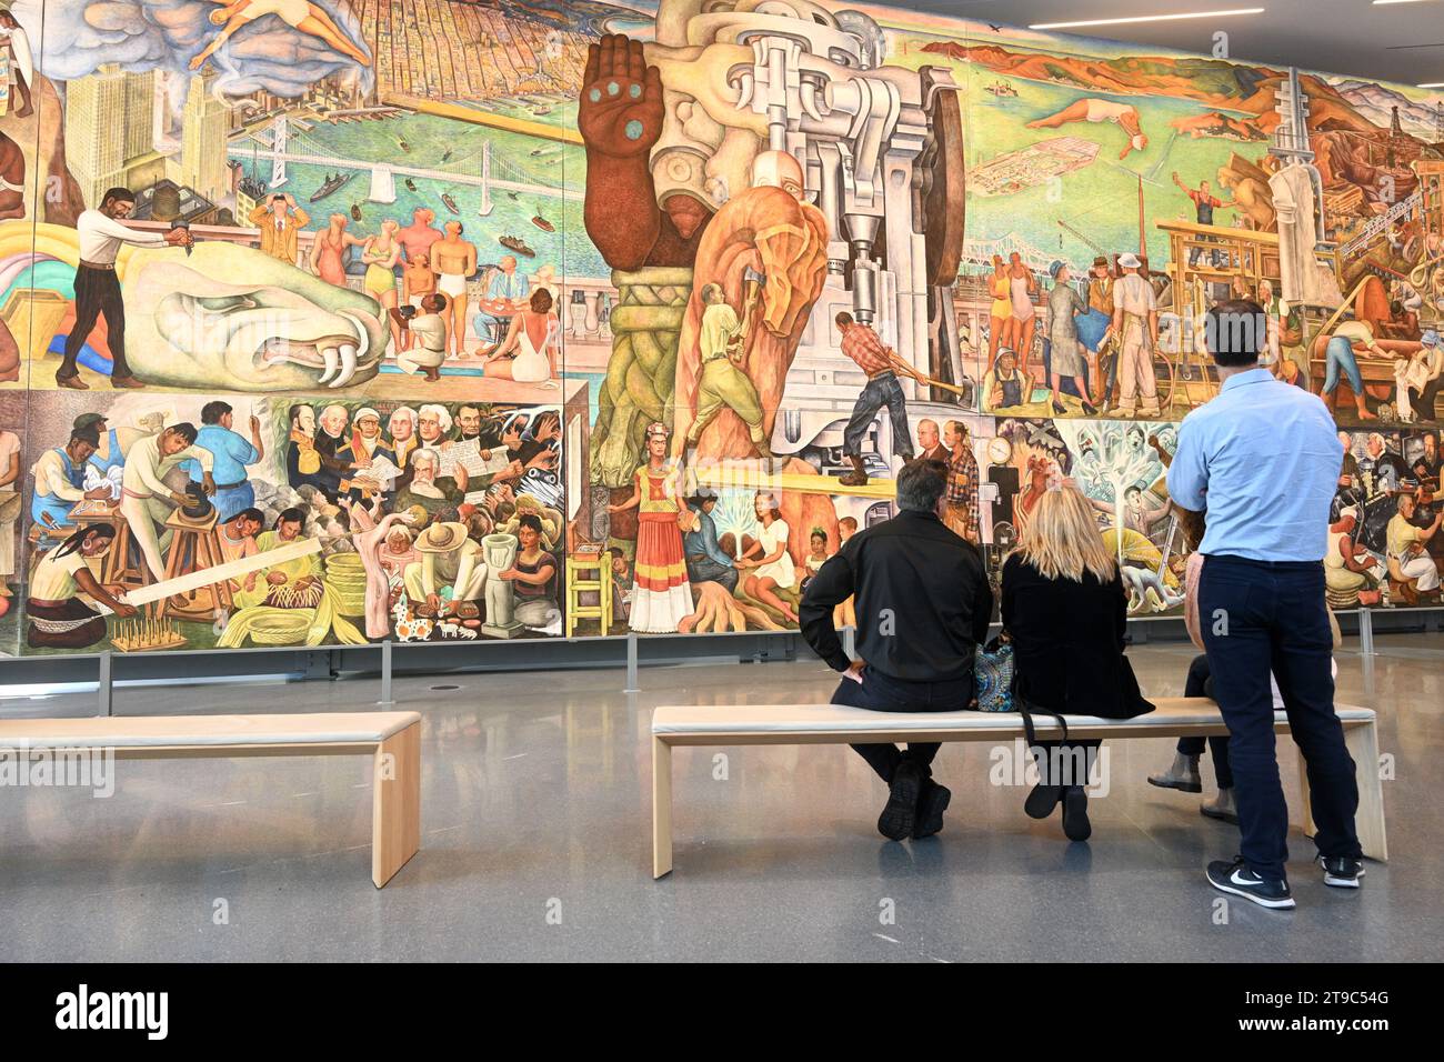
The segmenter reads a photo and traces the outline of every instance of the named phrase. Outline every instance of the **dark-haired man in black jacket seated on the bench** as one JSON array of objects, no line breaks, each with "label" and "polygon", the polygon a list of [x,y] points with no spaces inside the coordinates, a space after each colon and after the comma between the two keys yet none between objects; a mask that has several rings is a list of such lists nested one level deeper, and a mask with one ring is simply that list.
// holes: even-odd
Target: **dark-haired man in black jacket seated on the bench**
[{"label": "dark-haired man in black jacket seated on the bench", "polygon": [[[833,704],[879,712],[947,712],[973,701],[973,655],[988,637],[992,590],[982,553],[943,526],[947,470],[913,461],[898,472],[898,514],[848,539],[807,584],[803,637],[842,672]],[[849,660],[833,608],[856,595],[858,652]],[[1265,683],[1266,686],[1266,683]],[[878,832],[892,841],[943,828],[952,793],[933,782],[939,746],[859,744],[888,785]]]}]

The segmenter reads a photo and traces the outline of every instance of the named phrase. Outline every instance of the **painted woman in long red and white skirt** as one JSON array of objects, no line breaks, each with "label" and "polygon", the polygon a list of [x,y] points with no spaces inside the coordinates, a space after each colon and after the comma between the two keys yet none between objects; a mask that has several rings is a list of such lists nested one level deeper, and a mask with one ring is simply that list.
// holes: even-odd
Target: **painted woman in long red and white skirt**
[{"label": "painted woman in long red and white skirt", "polygon": [[648,634],[674,631],[695,611],[680,527],[689,510],[682,504],[680,468],[667,461],[667,435],[664,425],[647,425],[647,464],[632,477],[632,496],[619,506],[606,507],[609,513],[641,510],[628,623],[632,630]]}]

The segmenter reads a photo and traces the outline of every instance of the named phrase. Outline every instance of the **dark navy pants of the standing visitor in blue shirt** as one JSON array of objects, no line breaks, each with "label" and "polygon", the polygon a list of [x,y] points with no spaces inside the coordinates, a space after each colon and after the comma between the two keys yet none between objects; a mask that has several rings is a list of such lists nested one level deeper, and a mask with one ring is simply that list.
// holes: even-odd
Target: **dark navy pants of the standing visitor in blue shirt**
[{"label": "dark navy pants of the standing visitor in blue shirt", "polygon": [[1308,767],[1314,842],[1323,855],[1360,858],[1354,763],[1334,715],[1324,566],[1210,555],[1199,579],[1199,620],[1213,696],[1229,727],[1240,854],[1249,870],[1287,877],[1288,806],[1278,776],[1271,669]]}]

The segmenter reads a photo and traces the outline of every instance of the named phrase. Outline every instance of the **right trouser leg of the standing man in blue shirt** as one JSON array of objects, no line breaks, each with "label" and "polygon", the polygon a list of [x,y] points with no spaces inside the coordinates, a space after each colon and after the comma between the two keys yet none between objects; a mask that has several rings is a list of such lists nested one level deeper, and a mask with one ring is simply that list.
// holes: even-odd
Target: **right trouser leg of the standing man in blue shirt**
[{"label": "right trouser leg of the standing man in blue shirt", "polygon": [[[1308,770],[1308,803],[1318,828],[1314,844],[1320,855],[1359,860],[1363,858],[1354,832],[1359,785],[1343,725],[1334,714],[1333,636],[1323,568],[1288,572],[1278,585],[1282,623],[1274,630],[1274,676]],[[1229,750],[1229,759],[1238,767],[1235,748]]]}]

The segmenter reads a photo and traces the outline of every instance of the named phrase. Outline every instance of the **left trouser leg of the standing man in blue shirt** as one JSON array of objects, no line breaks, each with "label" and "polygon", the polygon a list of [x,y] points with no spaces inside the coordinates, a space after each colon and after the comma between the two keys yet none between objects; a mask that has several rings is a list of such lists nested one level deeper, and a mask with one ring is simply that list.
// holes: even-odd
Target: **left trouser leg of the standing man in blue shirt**
[{"label": "left trouser leg of the standing man in blue shirt", "polygon": [[1288,805],[1278,776],[1269,689],[1271,627],[1276,614],[1272,597],[1274,581],[1262,565],[1213,556],[1203,565],[1199,610],[1203,616],[1227,617],[1226,624],[1204,626],[1203,642],[1214,699],[1229,727],[1229,763],[1243,835],[1239,851],[1255,874],[1282,881]]}]

